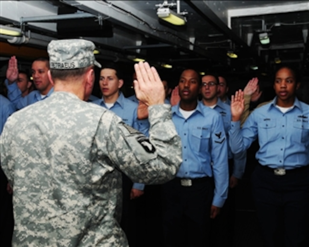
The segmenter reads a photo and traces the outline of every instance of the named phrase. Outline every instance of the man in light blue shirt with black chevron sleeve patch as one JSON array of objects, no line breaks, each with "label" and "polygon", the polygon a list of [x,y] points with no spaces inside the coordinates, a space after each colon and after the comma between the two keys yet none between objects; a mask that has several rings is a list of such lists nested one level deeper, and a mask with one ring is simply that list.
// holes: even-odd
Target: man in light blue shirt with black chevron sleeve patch
[{"label": "man in light blue shirt with black chevron sleeve patch", "polygon": [[165,246],[208,246],[210,219],[218,215],[227,198],[223,120],[219,113],[198,102],[200,88],[199,74],[184,70],[178,83],[180,102],[172,107],[183,162],[176,178],[162,187]]}]

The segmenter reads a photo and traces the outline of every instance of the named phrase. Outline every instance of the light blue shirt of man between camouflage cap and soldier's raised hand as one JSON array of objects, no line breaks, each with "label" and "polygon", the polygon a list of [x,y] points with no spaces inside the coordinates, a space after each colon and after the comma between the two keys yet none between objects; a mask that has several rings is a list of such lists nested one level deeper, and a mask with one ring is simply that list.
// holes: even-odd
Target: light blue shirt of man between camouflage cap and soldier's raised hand
[{"label": "light blue shirt of man between camouflage cap and soldier's raised hand", "polygon": [[[98,105],[101,105],[107,108],[103,98],[94,100],[91,103],[98,104]],[[123,93],[119,92],[118,99],[116,100],[114,105],[109,110],[111,110],[117,116],[121,117],[122,121],[125,124],[133,127],[136,130],[139,130],[145,135],[148,135],[149,122],[147,119],[138,120],[137,107],[138,107],[137,103],[125,98]],[[144,190],[144,187],[145,187],[144,184],[140,184],[140,183],[133,184],[134,189]]]}]

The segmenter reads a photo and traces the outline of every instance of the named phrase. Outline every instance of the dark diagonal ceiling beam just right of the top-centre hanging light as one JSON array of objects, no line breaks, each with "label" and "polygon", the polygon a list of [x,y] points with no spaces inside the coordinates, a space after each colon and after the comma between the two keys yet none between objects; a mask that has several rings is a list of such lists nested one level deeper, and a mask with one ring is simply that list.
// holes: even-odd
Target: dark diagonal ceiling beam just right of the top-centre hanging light
[{"label": "dark diagonal ceiling beam just right of the top-centre hanging light", "polygon": [[214,13],[214,11],[208,6],[208,1],[189,1],[185,2],[192,7],[203,19],[213,25],[216,29],[226,35],[233,42],[238,44],[242,49],[248,50],[249,54],[259,59],[257,52],[250,48],[247,43],[242,40],[235,32],[233,32],[228,26]]}]

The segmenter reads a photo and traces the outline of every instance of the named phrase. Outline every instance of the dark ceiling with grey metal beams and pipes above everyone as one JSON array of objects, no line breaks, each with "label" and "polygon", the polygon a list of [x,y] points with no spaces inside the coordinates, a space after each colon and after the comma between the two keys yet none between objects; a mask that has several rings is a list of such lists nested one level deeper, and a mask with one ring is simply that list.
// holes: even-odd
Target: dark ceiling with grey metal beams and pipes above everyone
[{"label": "dark ceiling with grey metal beams and pipes above everyone", "polygon": [[[162,2],[0,1],[0,24],[23,28],[25,36],[30,35],[28,44],[21,45],[45,48],[50,40],[66,37],[60,35],[60,22],[68,24],[67,32],[81,37],[83,23],[90,20],[88,31],[94,31],[83,37],[95,42],[102,60],[131,62],[136,56],[155,66],[170,63],[174,68],[241,74],[253,72],[251,65],[257,65],[259,73],[272,71],[279,57],[309,75],[309,1],[182,0],[180,9],[188,12],[188,22],[181,28],[159,21],[155,5]],[[67,19],[56,20],[65,13]],[[93,18],[82,18],[87,15]],[[105,23],[112,27],[112,37],[104,37],[109,30],[104,29]],[[270,45],[259,42],[258,33],[263,30],[270,34]],[[0,41],[6,40],[0,35]],[[230,49],[238,58],[226,56]]]}]

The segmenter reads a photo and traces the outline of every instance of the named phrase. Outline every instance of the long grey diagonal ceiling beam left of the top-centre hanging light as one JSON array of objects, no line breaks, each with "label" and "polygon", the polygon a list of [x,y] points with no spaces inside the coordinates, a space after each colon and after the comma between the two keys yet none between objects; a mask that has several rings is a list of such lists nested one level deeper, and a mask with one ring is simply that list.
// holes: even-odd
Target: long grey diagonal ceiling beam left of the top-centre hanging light
[{"label": "long grey diagonal ceiling beam left of the top-centre hanging light", "polygon": [[[226,57],[220,57],[202,47],[190,43],[190,35],[187,32],[178,32],[174,29],[161,25],[157,19],[146,15],[143,11],[130,6],[129,1],[81,1],[81,0],[62,0],[70,6],[79,10],[91,13],[93,15],[102,15],[111,23],[117,24],[122,28],[129,29],[131,32],[138,32],[146,36],[151,36],[161,42],[176,45],[189,53],[195,53],[200,56],[209,57],[217,61],[223,61]],[[151,2],[150,2],[151,3]],[[155,4],[154,4],[155,7]],[[193,50],[192,48],[193,45]]]}]

